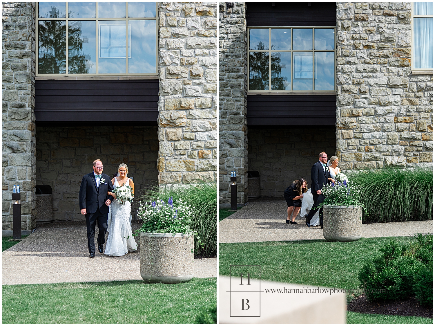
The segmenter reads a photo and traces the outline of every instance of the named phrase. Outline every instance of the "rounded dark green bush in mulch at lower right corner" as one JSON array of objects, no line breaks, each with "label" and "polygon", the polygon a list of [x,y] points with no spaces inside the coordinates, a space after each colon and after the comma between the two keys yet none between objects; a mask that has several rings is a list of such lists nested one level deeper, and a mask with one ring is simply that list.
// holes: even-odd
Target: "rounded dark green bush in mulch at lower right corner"
[{"label": "rounded dark green bush in mulch at lower right corner", "polygon": [[400,300],[412,296],[432,305],[433,235],[415,235],[416,242],[400,246],[394,240],[382,255],[366,263],[358,274],[360,287],[371,301]]}]

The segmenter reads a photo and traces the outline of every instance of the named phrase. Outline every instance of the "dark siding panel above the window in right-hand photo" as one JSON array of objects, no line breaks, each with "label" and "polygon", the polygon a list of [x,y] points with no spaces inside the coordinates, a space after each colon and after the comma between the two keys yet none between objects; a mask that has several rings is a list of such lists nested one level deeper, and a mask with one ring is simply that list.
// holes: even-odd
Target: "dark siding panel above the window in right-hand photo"
[{"label": "dark siding panel above the window in right-hand photo", "polygon": [[335,26],[335,2],[248,2],[249,27]]}]

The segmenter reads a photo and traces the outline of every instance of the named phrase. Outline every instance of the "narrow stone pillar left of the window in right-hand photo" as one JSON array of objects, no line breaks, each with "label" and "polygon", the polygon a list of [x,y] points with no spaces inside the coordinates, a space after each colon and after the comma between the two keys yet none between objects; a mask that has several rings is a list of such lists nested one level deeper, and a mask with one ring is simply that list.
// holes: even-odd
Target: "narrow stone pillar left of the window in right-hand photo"
[{"label": "narrow stone pillar left of the window in right-hand photo", "polygon": [[246,7],[219,3],[219,207],[231,205],[231,171],[237,174],[237,202],[248,201]]}]

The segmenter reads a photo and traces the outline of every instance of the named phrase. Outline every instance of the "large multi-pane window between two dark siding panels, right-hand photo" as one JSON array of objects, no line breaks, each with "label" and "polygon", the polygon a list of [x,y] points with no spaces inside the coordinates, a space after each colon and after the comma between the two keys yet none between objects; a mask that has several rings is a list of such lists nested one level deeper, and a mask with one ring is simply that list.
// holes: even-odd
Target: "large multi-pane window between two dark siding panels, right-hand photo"
[{"label": "large multi-pane window between two dark siding panels, right-hand photo", "polygon": [[335,28],[249,28],[249,91],[335,91]]}]

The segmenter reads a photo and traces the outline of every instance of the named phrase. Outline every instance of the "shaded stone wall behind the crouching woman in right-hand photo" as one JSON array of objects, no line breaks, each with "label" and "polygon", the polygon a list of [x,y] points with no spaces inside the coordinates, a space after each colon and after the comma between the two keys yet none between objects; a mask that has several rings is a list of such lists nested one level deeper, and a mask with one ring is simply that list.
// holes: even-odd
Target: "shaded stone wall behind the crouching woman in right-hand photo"
[{"label": "shaded stone wall behind the crouching woman in right-hand photo", "polygon": [[318,154],[335,154],[335,128],[286,126],[249,128],[248,171],[260,173],[260,195],[282,197],[292,181],[304,178],[311,187],[311,166]]}]

